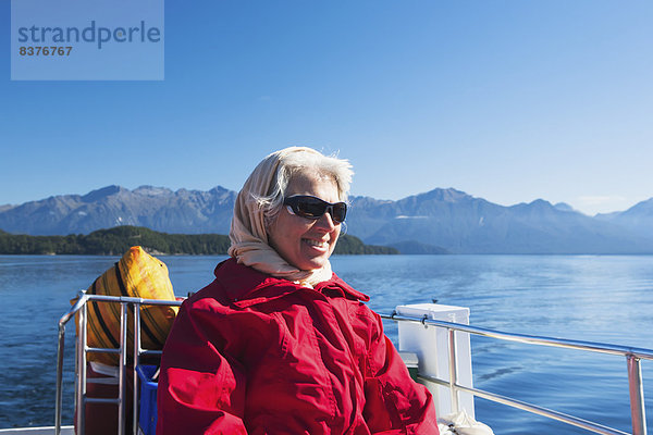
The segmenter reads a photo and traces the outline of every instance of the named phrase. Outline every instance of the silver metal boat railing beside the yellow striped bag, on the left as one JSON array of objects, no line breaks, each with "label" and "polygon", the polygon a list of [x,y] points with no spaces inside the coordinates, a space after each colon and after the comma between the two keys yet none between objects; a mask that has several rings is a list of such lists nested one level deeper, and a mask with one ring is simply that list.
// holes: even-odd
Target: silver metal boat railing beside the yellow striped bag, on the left
[{"label": "silver metal boat railing beside the yellow striped bag, on the left", "polygon": [[[88,302],[103,303],[120,303],[120,346],[118,348],[93,348],[87,344],[87,326],[88,326]],[[126,371],[127,368],[127,313],[132,309],[134,313],[134,358],[132,361],[133,376],[133,433],[138,433],[138,376],[136,376],[136,366],[139,363],[141,356],[161,355],[160,350],[143,349],[140,343],[140,306],[174,306],[182,304],[180,300],[160,300],[160,299],[143,299],[125,296],[100,296],[87,295],[86,291],[81,291],[77,301],[73,307],[59,320],[59,343],[57,349],[57,398],[54,409],[54,434],[61,433],[61,413],[63,402],[63,353],[65,346],[65,324],[78,315],[78,334],[76,339],[76,358],[75,358],[75,408],[77,409],[76,426],[78,434],[84,434],[85,431],[85,409],[87,403],[113,403],[118,405],[118,433],[124,435],[125,432],[125,414],[126,414]],[[93,383],[93,378],[86,378],[86,362],[88,352],[99,353],[116,353],[119,355],[119,393],[116,398],[96,398],[87,397],[86,384]]]}]

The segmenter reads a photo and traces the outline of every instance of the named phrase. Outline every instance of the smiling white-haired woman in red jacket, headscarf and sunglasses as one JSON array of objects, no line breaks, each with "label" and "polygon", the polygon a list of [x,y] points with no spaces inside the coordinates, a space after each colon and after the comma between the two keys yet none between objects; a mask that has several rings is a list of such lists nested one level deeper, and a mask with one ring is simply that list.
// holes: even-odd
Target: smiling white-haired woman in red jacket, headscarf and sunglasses
[{"label": "smiling white-haired woman in red jacket, headscarf and sunglasses", "polygon": [[231,258],[182,306],[163,350],[158,435],[438,434],[369,298],[331,271],[346,160],[292,147],[238,194]]}]

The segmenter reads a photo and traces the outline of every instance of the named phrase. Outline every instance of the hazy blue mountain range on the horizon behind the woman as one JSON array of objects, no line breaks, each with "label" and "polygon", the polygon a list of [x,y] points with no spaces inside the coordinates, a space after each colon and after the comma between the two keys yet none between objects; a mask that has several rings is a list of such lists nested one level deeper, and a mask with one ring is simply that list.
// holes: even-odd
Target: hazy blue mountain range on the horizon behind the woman
[{"label": "hazy blue mountain range on the horizon behind the woman", "polygon": [[[20,206],[0,206],[0,229],[88,234],[119,225],[165,233],[229,234],[236,192],[108,186]],[[352,197],[347,233],[404,253],[653,253],[653,198],[624,212],[588,216],[538,199],[504,207],[433,189],[397,201]]]}]

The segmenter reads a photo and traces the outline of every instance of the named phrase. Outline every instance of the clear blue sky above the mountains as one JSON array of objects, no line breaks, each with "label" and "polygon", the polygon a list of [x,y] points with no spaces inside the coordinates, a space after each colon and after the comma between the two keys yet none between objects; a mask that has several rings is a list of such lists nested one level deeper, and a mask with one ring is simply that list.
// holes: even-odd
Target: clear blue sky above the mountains
[{"label": "clear blue sky above the mountains", "polygon": [[163,82],[11,82],[9,27],[0,0],[0,204],[237,190],[291,145],[379,199],[653,197],[651,1],[168,0]]}]

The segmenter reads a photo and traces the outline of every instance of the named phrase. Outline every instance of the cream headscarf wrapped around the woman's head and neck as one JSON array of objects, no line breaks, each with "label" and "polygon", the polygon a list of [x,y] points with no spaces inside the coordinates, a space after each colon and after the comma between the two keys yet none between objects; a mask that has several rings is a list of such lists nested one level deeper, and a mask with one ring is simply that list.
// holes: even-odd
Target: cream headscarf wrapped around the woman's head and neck
[{"label": "cream headscarf wrapped around the woman's head and neck", "polygon": [[231,239],[229,254],[234,257],[238,263],[259,272],[312,287],[318,283],[331,279],[331,263],[326,260],[324,266],[312,271],[303,271],[288,264],[268,245],[263,211],[257,200],[257,198],[272,194],[280,164],[293,152],[320,154],[311,148],[289,147],[273,152],[256,166],[238,192],[234,204],[234,215],[229,234]]}]

